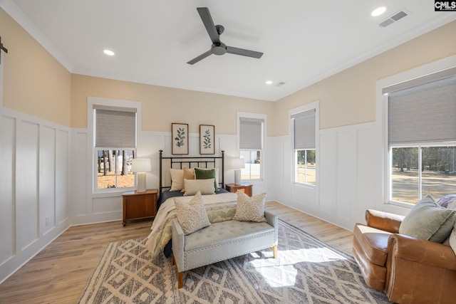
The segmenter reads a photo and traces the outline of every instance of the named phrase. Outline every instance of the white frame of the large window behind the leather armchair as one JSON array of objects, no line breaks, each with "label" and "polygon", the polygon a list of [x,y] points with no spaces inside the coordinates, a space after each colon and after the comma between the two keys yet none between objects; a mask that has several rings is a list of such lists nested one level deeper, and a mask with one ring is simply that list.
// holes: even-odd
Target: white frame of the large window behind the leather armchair
[{"label": "white frame of the large window behind the leather armchair", "polygon": [[[400,209],[395,209],[395,206],[398,207],[405,207],[410,209],[413,204],[405,203],[402,201],[393,201],[390,199],[391,191],[392,191],[392,183],[391,183],[391,166],[392,166],[392,157],[391,157],[391,150],[390,145],[388,143],[388,95],[383,94],[383,88],[387,88],[390,85],[395,85],[398,83],[403,83],[408,80],[413,80],[415,78],[420,78],[425,75],[430,75],[432,73],[437,73],[440,70],[446,70],[447,68],[453,68],[456,66],[456,55],[442,58],[438,61],[427,63],[425,65],[421,65],[417,68],[413,68],[411,70],[406,70],[402,73],[398,73],[395,75],[391,75],[387,78],[383,78],[377,81],[376,83],[376,122],[378,123],[378,132],[379,138],[381,138],[381,145],[383,147],[382,151],[382,199],[383,204],[391,206],[386,211],[399,211]],[[410,146],[412,144],[408,144]],[[452,142],[439,142],[439,143],[421,143],[421,146],[430,146],[430,145],[452,145]],[[418,145],[413,145],[414,147]],[[396,147],[396,145],[395,145]]]}]

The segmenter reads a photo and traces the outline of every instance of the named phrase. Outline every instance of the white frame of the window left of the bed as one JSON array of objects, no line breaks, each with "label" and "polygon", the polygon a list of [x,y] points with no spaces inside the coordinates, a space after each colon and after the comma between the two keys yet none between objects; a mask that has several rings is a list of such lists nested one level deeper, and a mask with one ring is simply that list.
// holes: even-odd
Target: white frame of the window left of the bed
[{"label": "white frame of the window left of the bed", "polygon": [[[105,107],[113,108],[134,108],[136,109],[136,145],[133,149],[125,148],[118,149],[116,147],[95,147],[95,125],[94,125],[94,105],[103,105]],[[117,100],[110,98],[87,98],[87,125],[88,125],[88,159],[90,163],[88,164],[88,172],[91,172],[90,180],[90,189],[92,189],[92,194],[118,194],[125,191],[132,191],[137,187],[137,180],[135,177],[135,184],[133,187],[123,187],[123,188],[108,188],[108,189],[98,189],[97,184],[97,151],[100,149],[105,150],[134,150],[135,156],[138,157],[138,137],[140,134],[141,126],[141,103],[130,100]]]}]

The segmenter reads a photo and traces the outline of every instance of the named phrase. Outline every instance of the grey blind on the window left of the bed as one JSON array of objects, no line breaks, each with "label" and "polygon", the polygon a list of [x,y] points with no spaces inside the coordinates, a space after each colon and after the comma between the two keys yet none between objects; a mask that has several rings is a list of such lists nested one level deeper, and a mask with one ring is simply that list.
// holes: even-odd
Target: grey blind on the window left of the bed
[{"label": "grey blind on the window left of the bed", "polygon": [[136,147],[135,109],[95,108],[95,147]]}]

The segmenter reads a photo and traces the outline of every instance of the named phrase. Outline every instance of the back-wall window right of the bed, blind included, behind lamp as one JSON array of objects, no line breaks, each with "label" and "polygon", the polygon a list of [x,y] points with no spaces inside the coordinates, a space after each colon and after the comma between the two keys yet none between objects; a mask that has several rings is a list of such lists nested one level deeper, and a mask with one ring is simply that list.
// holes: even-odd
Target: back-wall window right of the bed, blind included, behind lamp
[{"label": "back-wall window right of the bed, blind included, behind lamp", "polygon": [[239,117],[239,154],[244,158],[242,180],[261,179],[264,119]]}]

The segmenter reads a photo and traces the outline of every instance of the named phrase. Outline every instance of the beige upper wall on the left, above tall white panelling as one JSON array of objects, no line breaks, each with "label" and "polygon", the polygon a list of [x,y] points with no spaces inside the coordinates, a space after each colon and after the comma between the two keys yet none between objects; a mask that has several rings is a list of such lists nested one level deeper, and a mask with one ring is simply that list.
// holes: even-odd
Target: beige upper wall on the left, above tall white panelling
[{"label": "beige upper wall on the left, above tall white panelling", "polygon": [[0,8],[5,108],[70,126],[71,73]]}]

